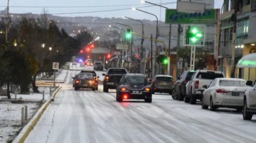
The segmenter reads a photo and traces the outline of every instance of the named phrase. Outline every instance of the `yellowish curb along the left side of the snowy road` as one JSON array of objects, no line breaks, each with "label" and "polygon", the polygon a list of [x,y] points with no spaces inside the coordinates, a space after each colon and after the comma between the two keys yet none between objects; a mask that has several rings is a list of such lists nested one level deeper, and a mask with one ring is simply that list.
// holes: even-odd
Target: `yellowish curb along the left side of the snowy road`
[{"label": "yellowish curb along the left side of the snowy road", "polygon": [[50,100],[46,101],[42,105],[42,107],[40,107],[40,109],[32,117],[32,119],[29,121],[29,123],[27,123],[27,125],[25,125],[25,127],[23,127],[21,132],[19,132],[19,135],[15,138],[15,140],[13,140],[13,143],[23,143],[23,142],[25,142],[25,140],[26,140],[27,136],[29,136],[29,133],[31,132],[31,130],[34,129],[34,127],[36,126],[36,123],[39,121],[40,117],[42,117],[42,114],[44,113],[44,111],[46,110],[48,105],[50,105],[50,103],[54,100],[56,94],[58,93],[58,91],[61,88],[62,87],[57,88],[55,90],[55,92],[52,94],[53,97],[50,98]]}]

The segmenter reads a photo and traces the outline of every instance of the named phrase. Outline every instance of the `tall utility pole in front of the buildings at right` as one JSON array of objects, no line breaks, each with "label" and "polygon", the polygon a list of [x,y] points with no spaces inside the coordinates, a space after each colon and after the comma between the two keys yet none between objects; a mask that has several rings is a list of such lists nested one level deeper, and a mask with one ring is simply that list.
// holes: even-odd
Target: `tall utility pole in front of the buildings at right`
[{"label": "tall utility pole in front of the buildings at right", "polygon": [[235,77],[235,41],[237,31],[237,11],[239,9],[239,1],[234,1],[234,13],[231,16],[233,21],[233,36],[232,36],[232,49],[231,49],[231,65],[230,65],[230,77]]}]

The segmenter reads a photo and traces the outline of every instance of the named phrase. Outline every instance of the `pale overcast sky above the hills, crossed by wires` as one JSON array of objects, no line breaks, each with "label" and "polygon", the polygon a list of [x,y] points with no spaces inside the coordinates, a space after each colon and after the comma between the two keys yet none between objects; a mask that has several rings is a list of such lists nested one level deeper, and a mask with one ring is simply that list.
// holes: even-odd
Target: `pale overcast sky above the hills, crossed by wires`
[{"label": "pale overcast sky above the hills, crossed by wires", "polygon": [[[0,1],[0,10],[7,7],[8,0]],[[176,9],[176,0],[148,0],[151,3],[162,4],[169,9]],[[200,1],[200,0],[194,0]],[[208,0],[213,1],[213,0]],[[215,0],[215,7],[220,8],[223,0]],[[131,10],[132,7],[156,14],[159,20],[164,20],[165,9],[141,0],[9,0],[10,13],[40,14],[43,10],[48,14],[58,16],[99,16],[122,18],[129,16],[137,19],[156,20],[155,16]]]}]

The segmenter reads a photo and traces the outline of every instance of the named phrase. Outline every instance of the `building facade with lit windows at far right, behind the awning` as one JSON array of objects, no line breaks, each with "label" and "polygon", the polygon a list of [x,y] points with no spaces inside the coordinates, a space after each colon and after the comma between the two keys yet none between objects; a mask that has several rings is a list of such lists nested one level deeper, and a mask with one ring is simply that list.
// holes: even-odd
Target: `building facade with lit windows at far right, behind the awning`
[{"label": "building facade with lit windows at far right, behind the awning", "polygon": [[[235,9],[237,9],[236,14]],[[255,11],[256,0],[224,0],[220,18],[220,49],[218,61],[220,71],[223,71],[227,77],[232,76],[232,48],[235,49],[234,65],[244,55],[256,52]],[[233,30],[234,25],[236,25],[235,33]],[[234,37],[233,34],[235,34]],[[233,42],[235,42],[235,45],[232,44]],[[254,81],[256,79],[255,72],[255,69],[235,69],[233,73],[236,77]]]}]

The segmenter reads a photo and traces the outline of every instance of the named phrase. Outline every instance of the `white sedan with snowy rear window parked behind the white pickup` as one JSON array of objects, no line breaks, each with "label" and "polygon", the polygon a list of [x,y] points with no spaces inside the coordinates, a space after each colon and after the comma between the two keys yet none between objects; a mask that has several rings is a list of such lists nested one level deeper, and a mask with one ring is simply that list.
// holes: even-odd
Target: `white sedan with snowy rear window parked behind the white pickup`
[{"label": "white sedan with snowy rear window parked behind the white pickup", "polygon": [[[207,85],[204,85],[205,88]],[[202,109],[216,111],[218,107],[229,107],[243,110],[243,95],[249,88],[246,81],[240,78],[215,78],[203,92]]]}]

